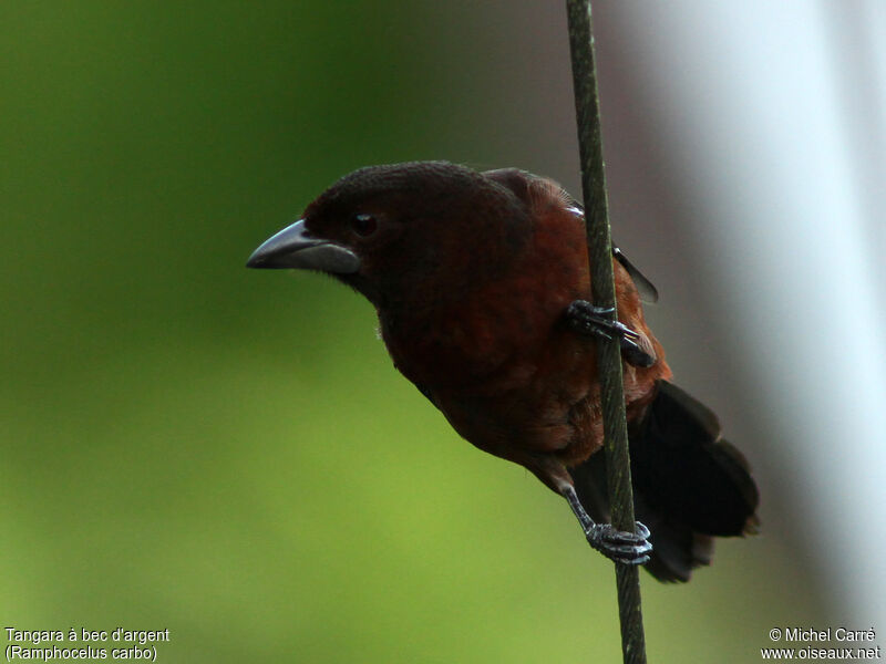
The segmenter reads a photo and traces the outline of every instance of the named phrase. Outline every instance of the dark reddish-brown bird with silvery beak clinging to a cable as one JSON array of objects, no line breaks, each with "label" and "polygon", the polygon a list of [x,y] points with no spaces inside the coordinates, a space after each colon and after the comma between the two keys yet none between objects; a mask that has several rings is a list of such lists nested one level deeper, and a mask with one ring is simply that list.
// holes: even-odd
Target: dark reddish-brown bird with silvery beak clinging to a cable
[{"label": "dark reddish-brown bird with silvery beak clinging to a cable", "polygon": [[[583,207],[517,168],[368,166],[332,184],[249,257],[330,274],[375,308],[394,366],[477,448],[563,496],[590,546],[688,581],[715,537],[759,529],[759,491],[717,416],[671,381],[642,301],[658,292],[612,250],[618,320],[595,308]],[[597,367],[619,340],[636,531],[610,525]]]}]

